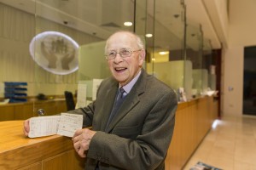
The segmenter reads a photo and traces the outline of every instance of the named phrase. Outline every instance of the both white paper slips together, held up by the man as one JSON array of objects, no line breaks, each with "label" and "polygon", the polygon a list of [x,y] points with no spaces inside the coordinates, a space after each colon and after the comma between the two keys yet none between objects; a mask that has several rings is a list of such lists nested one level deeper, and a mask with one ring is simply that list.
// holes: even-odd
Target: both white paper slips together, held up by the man
[{"label": "both white paper slips together, held up by the man", "polygon": [[29,121],[29,138],[37,138],[60,134],[73,137],[77,129],[83,127],[83,116],[70,113],[61,113],[61,116],[38,116]]}]

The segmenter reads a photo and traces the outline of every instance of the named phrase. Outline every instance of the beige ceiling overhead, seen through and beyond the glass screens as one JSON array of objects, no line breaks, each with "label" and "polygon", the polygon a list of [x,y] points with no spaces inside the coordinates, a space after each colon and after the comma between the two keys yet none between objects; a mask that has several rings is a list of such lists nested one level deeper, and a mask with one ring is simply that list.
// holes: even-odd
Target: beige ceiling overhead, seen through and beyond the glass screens
[{"label": "beige ceiling overhead, seen through and beyond the glass screens", "polygon": [[[28,13],[38,14],[48,20],[53,20],[57,23],[64,24],[73,27],[79,31],[92,34],[102,39],[108,38],[108,36],[116,29],[122,29],[123,20],[133,20],[131,17],[131,11],[134,11],[133,3],[135,0],[117,1],[117,0],[0,0],[1,3],[8,4],[15,8],[20,8]],[[137,11],[145,11],[144,1],[137,1]],[[148,7],[152,8],[154,0],[148,0]],[[166,32],[160,32],[163,34],[155,44],[159,44],[160,47],[166,46],[166,43],[170,47],[163,48],[175,48],[181,44],[177,44],[178,39],[183,38],[183,27],[180,24],[180,19],[177,20],[177,16],[180,16],[181,8],[180,1],[161,0],[155,5],[155,14],[157,14],[157,24],[165,27]],[[143,4],[139,4],[143,3]],[[173,4],[177,3],[177,4]],[[86,4],[86,5],[84,5]],[[150,5],[152,4],[152,5]],[[205,39],[211,43],[212,48],[221,48],[220,37],[216,31],[216,27],[213,26],[212,18],[209,16],[206,4],[203,0],[187,0],[186,16],[188,24],[191,26],[201,27]],[[99,7],[101,10],[99,10]],[[131,8],[132,7],[132,8]],[[141,10],[138,10],[141,9]],[[116,11],[116,13],[109,13],[109,11]],[[121,16],[119,15],[121,14]],[[149,14],[153,16],[153,14]],[[140,18],[143,22],[145,18]],[[168,21],[172,23],[168,24]],[[127,28],[125,28],[127,30]],[[139,29],[139,28],[137,28]],[[148,30],[150,31],[150,30]],[[168,36],[172,32],[172,36]],[[157,33],[158,31],[154,31]],[[192,43],[192,42],[191,42]],[[178,47],[177,47],[178,48]]]}]

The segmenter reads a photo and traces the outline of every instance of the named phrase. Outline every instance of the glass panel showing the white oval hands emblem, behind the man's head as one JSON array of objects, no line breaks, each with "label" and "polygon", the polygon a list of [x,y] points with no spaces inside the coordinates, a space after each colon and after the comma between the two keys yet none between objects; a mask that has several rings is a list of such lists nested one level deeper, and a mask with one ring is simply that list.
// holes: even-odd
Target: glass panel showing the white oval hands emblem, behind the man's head
[{"label": "glass panel showing the white oval hands emblem, behind the man's head", "polygon": [[[37,0],[36,35],[59,33],[34,40],[32,54],[38,62],[33,87],[34,94],[42,98],[35,102],[34,111],[44,109],[46,115],[67,111],[64,92],[71,92],[76,100],[81,87],[87,101],[79,100],[79,106],[95,99],[97,85],[110,75],[104,58],[106,39],[119,30],[136,31],[143,36],[145,3],[146,0],[136,4],[119,0]],[[125,26],[128,21],[131,26]]]}]

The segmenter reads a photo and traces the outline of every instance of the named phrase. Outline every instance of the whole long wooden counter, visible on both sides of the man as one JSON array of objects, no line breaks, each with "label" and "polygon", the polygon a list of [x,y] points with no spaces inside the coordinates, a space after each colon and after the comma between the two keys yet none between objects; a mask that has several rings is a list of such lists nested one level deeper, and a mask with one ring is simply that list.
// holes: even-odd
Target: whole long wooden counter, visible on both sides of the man
[{"label": "whole long wooden counter, visible on both sides of the man", "polygon": [[[166,170],[183,168],[217,116],[218,102],[213,97],[178,104],[172,144],[166,157]],[[1,170],[83,169],[83,160],[73,150],[71,139],[59,135],[25,138],[22,122],[0,122]]]}]

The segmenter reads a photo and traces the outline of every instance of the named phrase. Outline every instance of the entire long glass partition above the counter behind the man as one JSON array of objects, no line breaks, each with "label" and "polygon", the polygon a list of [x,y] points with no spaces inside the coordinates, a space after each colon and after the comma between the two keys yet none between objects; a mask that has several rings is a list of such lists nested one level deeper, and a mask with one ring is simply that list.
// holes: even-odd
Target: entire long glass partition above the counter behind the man
[{"label": "entire long glass partition above the counter behind the man", "polygon": [[24,104],[11,110],[20,114],[9,114],[10,119],[67,111],[65,92],[79,106],[95,99],[97,85],[110,75],[103,55],[114,31],[140,35],[146,44],[146,71],[187,98],[202,91],[203,71],[195,81],[192,69],[211,67],[202,64],[200,26],[185,27],[182,0],[4,1],[0,8],[0,99],[11,99],[4,82],[18,82],[15,89],[21,92],[9,95]]}]

